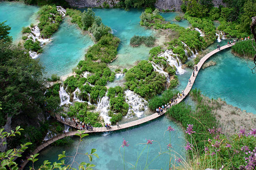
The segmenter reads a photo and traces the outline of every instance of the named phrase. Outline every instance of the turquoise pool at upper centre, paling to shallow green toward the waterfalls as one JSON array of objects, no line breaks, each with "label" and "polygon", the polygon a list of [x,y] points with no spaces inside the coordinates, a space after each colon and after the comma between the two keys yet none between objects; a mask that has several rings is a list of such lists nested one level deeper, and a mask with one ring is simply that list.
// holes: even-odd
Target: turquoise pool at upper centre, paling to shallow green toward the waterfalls
[{"label": "turquoise pool at upper centre, paling to shallow green toward the waterfalls", "polygon": [[[82,11],[84,9],[81,9]],[[118,46],[118,58],[111,62],[114,67],[131,67],[138,60],[148,60],[148,52],[151,47],[141,45],[131,47],[130,40],[134,35],[149,36],[154,35],[154,31],[145,30],[140,26],[140,16],[142,10],[131,9],[93,9],[97,16],[102,18],[103,24],[109,26],[115,36],[121,42]]]}]

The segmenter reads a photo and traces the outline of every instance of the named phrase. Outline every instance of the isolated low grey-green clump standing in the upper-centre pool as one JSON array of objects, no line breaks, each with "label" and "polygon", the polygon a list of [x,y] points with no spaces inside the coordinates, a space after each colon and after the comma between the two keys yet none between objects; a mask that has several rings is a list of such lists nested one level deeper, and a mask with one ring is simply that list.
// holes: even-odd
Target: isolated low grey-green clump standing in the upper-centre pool
[{"label": "isolated low grey-green clump standing in the upper-centre pool", "polygon": [[132,47],[137,47],[141,44],[146,45],[147,47],[152,47],[155,44],[156,38],[153,36],[137,36],[134,35],[131,40],[130,44]]}]

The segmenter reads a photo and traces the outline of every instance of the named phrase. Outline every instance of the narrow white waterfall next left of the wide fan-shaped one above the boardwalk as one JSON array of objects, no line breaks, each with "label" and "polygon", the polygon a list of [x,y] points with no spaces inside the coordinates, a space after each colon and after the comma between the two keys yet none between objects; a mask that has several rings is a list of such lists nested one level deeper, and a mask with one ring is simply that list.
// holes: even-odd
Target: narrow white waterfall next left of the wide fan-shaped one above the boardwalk
[{"label": "narrow white waterfall next left of the wide fan-shaped one above the boardwalk", "polygon": [[98,106],[96,108],[97,111],[100,111],[100,116],[103,117],[105,123],[110,123],[110,118],[108,116],[108,107],[110,107],[109,104],[109,97],[104,96],[101,98],[100,102],[98,102]]}]

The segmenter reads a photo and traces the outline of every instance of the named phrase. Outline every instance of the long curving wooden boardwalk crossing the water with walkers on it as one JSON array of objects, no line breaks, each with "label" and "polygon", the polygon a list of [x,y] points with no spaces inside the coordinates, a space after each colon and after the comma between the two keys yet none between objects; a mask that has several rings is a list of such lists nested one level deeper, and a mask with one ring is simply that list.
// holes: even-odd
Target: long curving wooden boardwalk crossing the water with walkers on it
[{"label": "long curving wooden boardwalk crossing the water with walkers on it", "polygon": [[[224,50],[228,47],[231,47],[232,45],[228,46],[228,45],[225,45],[223,47],[220,47],[220,50]],[[184,97],[182,98],[177,98],[177,103],[181,102],[190,92],[194,82],[195,82],[195,79],[197,77],[197,73],[199,72],[200,68],[202,67],[202,65],[204,64],[204,62],[209,58],[211,57],[212,55],[214,55],[215,53],[219,52],[220,50],[213,50],[211,52],[209,52],[207,55],[205,55],[204,57],[202,57],[202,59],[200,60],[200,62],[198,62],[197,64],[197,71],[195,71],[195,75],[193,76],[193,73],[192,75],[190,76],[190,80],[191,82],[187,84],[185,90],[184,90]],[[164,113],[166,112],[166,110],[163,111],[163,114],[161,115],[164,115]],[[93,128],[93,130],[85,130],[85,133],[96,133],[96,132],[108,132],[108,131],[114,131],[114,130],[120,130],[120,129],[125,129],[125,128],[129,128],[129,127],[132,127],[132,126],[136,126],[136,125],[140,125],[140,124],[143,124],[145,122],[148,122],[150,120],[153,120],[157,117],[160,117],[161,115],[158,115],[157,113],[154,113],[152,115],[149,115],[147,117],[143,117],[141,119],[138,119],[138,120],[134,120],[132,122],[128,122],[128,123],[124,123],[122,125],[120,125],[120,128],[118,128],[116,125],[115,126],[111,126],[111,129],[106,129],[105,127],[101,127],[101,128]],[[56,116],[56,119],[66,125],[69,125],[71,126],[72,128],[76,128],[76,129],[80,129],[81,125],[79,124],[78,122],[78,127],[75,126],[75,123],[70,120],[61,120],[61,118],[59,117],[59,115]],[[43,150],[44,148],[46,148],[48,145],[50,145],[51,143],[54,143],[56,140],[59,140],[59,139],[62,139],[64,137],[67,137],[67,136],[73,136],[75,135],[77,132],[77,130],[74,130],[74,131],[71,131],[71,132],[67,132],[67,133],[62,133],[62,134],[59,134],[59,135],[56,135],[54,136],[53,138],[47,140],[46,142],[42,143],[40,146],[38,146],[34,151],[33,151],[33,155],[40,152],[41,150]],[[24,167],[26,164],[28,163],[28,160],[24,160],[24,163],[22,164],[22,167]],[[23,169],[23,168],[22,168]]]}]

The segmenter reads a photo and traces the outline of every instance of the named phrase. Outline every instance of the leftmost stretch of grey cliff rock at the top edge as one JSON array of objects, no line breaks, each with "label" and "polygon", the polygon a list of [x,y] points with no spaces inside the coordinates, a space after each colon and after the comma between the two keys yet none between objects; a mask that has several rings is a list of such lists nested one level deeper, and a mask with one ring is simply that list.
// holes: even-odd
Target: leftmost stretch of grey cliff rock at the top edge
[{"label": "leftmost stretch of grey cliff rock at the top edge", "polygon": [[103,7],[103,3],[109,7],[115,6],[119,0],[66,0],[72,7]]}]

